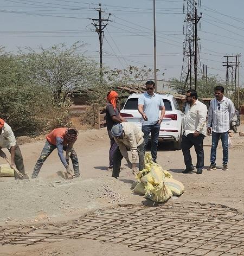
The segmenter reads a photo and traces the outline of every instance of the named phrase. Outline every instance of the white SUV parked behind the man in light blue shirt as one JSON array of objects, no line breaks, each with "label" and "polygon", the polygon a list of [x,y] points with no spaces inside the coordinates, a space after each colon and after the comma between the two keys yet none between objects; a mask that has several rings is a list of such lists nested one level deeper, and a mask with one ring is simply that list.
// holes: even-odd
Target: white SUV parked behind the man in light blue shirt
[{"label": "white SUV parked behind the man in light blue shirt", "polygon": [[[142,116],[138,112],[138,98],[142,93],[131,94],[120,115],[127,121],[137,124],[142,128]],[[181,140],[184,127],[184,114],[179,110],[178,103],[172,94],[159,94],[162,96],[165,106],[165,116],[160,126],[159,138],[174,143],[176,150],[181,149]],[[159,111],[160,115],[160,111]]]}]

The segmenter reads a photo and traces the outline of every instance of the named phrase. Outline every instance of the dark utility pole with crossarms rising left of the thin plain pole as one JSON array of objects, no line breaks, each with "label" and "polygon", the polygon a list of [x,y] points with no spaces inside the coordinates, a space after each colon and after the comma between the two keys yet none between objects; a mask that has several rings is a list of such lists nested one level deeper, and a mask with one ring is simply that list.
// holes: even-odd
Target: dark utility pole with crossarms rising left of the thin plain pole
[{"label": "dark utility pole with crossarms rising left of the thin plain pole", "polygon": [[99,36],[100,82],[102,83],[102,42],[104,41],[104,29],[108,25],[108,23],[102,24],[102,22],[111,21],[108,20],[111,14],[108,14],[107,19],[102,19],[102,12],[104,11],[101,10],[101,4],[99,4],[99,8],[95,10],[99,12],[99,18],[90,18],[90,20],[93,21],[92,25],[94,25],[95,31],[98,33]]}]

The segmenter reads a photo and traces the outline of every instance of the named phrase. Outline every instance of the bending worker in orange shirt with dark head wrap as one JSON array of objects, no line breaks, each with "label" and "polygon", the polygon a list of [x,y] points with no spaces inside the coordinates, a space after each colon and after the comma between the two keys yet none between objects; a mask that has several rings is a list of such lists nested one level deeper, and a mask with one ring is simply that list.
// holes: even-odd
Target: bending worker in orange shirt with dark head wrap
[{"label": "bending worker in orange shirt with dark head wrap", "polygon": [[[78,131],[75,129],[67,129],[67,128],[57,128],[54,129],[47,135],[47,142],[44,145],[44,148],[41,152],[41,156],[36,162],[33,174],[31,178],[36,178],[38,173],[46,161],[50,153],[53,152],[54,149],[57,148],[57,153],[60,157],[62,164],[65,166],[67,174],[70,177],[73,177],[73,171],[69,167],[69,157],[72,161],[73,168],[74,168],[74,175],[75,177],[80,176],[79,170],[79,162],[76,152],[73,149],[73,145],[77,139]],[[63,150],[66,151],[66,157],[63,155]]]}]

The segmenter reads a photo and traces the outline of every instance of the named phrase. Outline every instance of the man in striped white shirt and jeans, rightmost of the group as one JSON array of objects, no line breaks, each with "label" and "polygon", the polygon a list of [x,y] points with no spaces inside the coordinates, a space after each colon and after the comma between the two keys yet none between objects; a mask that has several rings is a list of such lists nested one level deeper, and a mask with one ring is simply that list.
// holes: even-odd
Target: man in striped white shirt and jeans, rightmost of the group
[{"label": "man in striped white shirt and jeans, rightmost of the group", "polygon": [[216,169],[216,149],[221,137],[223,148],[223,170],[228,170],[228,131],[229,124],[235,114],[235,106],[232,100],[224,97],[223,86],[214,88],[215,99],[211,100],[208,110],[208,133],[212,130],[212,146],[210,167],[207,170]]}]

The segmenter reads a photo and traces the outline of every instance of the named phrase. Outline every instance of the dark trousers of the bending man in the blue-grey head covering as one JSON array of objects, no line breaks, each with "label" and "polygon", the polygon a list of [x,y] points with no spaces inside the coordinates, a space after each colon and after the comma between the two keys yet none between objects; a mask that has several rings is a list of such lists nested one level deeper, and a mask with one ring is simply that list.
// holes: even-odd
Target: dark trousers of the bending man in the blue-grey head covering
[{"label": "dark trousers of the bending man in the blue-grey head covering", "polygon": [[[140,144],[137,147],[137,152],[139,156],[139,170],[142,171],[144,169],[144,143]],[[119,150],[119,147],[115,150],[113,155],[113,174],[112,177],[117,178],[119,177],[120,167],[121,167],[121,160],[123,156]]]}]

